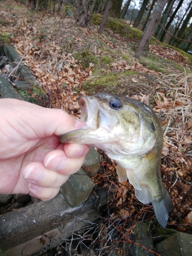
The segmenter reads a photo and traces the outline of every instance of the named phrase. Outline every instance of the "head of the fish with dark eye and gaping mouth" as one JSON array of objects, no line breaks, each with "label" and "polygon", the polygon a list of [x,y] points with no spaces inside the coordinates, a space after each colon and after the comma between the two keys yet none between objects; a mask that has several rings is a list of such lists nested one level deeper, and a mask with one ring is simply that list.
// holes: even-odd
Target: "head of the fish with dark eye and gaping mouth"
[{"label": "head of the fish with dark eye and gaping mouth", "polygon": [[61,135],[62,143],[89,144],[118,155],[143,154],[153,148],[155,135],[146,131],[141,102],[108,93],[80,96],[78,102],[86,125]]}]

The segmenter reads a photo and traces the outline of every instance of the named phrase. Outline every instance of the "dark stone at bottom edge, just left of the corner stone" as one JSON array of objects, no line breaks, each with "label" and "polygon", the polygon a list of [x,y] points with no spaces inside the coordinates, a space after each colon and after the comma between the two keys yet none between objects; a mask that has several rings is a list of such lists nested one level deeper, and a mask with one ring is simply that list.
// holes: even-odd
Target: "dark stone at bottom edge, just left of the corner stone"
[{"label": "dark stone at bottom edge, just left of the corner stone", "polygon": [[[154,253],[148,251],[148,250],[154,251],[153,240],[148,236],[148,229],[149,229],[148,223],[137,222],[136,226],[133,229],[134,234],[131,235],[130,239],[134,243],[140,244],[141,246],[133,243],[130,246],[131,255],[154,256]],[[142,246],[148,250],[144,249]]]}]

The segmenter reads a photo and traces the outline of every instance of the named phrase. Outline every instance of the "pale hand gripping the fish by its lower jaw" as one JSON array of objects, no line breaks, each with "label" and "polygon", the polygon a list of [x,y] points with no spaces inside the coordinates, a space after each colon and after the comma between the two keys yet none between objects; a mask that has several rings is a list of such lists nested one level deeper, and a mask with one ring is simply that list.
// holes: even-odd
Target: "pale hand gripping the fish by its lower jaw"
[{"label": "pale hand gripping the fish by its lower jaw", "polygon": [[52,199],[89,151],[88,145],[62,144],[58,136],[85,123],[16,99],[0,99],[0,117],[0,194]]}]

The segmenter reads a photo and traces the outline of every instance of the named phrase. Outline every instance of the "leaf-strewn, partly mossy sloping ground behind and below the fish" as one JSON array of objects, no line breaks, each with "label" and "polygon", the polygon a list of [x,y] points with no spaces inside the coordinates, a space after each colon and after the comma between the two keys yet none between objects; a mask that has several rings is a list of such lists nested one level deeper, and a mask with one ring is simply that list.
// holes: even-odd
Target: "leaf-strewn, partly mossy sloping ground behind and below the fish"
[{"label": "leaf-strewn, partly mossy sloping ground behind and below the fish", "polygon": [[[79,28],[71,14],[31,11],[14,1],[0,2],[0,37],[23,57],[49,100],[41,102],[35,88],[23,91],[23,96],[63,109],[75,118],[80,117],[77,96],[101,91],[133,97],[150,105],[155,113],[161,111],[161,172],[174,203],[168,227],[191,233],[191,56],[153,38],[149,51],[136,59],[141,31],[111,17],[99,35],[101,17],[94,17],[87,28]],[[136,221],[157,226],[152,206],[138,202],[132,185],[118,181],[115,164],[105,155],[101,166],[93,180],[96,188],[108,189],[108,218],[121,220],[121,225],[115,224],[119,236],[128,236]],[[130,225],[129,229],[123,230],[122,223]],[[102,232],[101,236],[103,240],[107,237]]]}]

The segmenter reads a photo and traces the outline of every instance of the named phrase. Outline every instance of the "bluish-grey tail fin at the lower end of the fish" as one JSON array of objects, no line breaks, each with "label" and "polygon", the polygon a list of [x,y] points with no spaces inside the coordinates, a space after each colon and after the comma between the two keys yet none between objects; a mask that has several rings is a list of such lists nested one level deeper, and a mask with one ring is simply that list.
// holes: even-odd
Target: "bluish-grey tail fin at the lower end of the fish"
[{"label": "bluish-grey tail fin at the lower end of the fish", "polygon": [[159,224],[165,228],[168,220],[168,212],[172,211],[174,206],[167,189],[164,189],[164,197],[161,200],[153,200],[152,205]]}]

